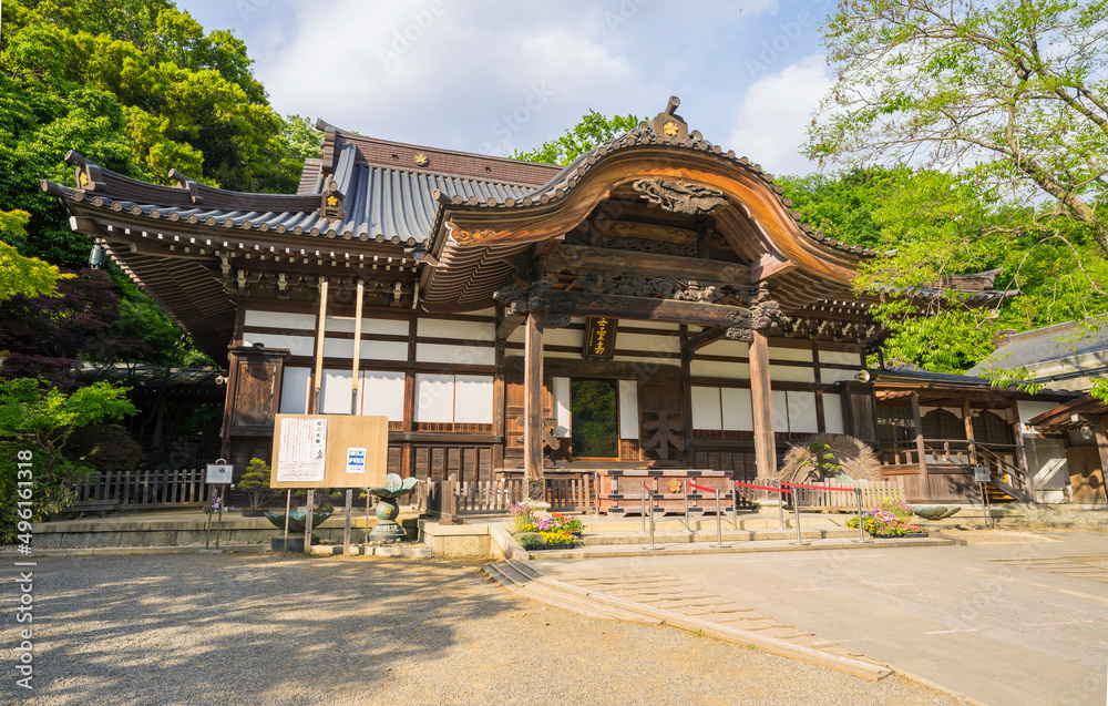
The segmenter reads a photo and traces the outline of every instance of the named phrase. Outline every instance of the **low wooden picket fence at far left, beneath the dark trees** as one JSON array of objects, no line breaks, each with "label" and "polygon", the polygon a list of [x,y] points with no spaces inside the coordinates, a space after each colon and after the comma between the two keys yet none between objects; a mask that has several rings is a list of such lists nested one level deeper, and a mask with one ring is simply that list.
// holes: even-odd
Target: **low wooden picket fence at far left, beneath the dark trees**
[{"label": "low wooden picket fence at far left, beneath the dark trees", "polygon": [[70,480],[74,511],[201,507],[211,500],[204,469],[96,471]]}]

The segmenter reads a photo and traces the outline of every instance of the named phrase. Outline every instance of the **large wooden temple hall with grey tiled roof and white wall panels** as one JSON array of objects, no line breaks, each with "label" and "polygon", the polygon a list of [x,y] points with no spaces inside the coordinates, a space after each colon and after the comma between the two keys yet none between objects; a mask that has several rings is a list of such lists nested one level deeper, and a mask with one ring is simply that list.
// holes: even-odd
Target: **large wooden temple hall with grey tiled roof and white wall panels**
[{"label": "large wooden temple hall with grey tiled roof and white wall panels", "polygon": [[[690,132],[677,104],[565,167],[321,124],[297,194],[176,171],[154,185],[73,153],[75,186],[43,188],[228,359],[223,441],[238,468],[268,458],[279,412],[353,413],[387,416],[390,470],[432,480],[770,478],[790,442],[828,432],[884,448],[890,474],[919,477],[910,497],[964,495],[985,454],[929,456],[927,408],[956,411],[972,444],[963,420],[979,408],[1010,433],[1018,416],[996,409],[1014,397],[875,388],[876,299],[850,287],[872,253],[813,233],[770,174]],[[1010,294],[991,284],[975,301]]]}]

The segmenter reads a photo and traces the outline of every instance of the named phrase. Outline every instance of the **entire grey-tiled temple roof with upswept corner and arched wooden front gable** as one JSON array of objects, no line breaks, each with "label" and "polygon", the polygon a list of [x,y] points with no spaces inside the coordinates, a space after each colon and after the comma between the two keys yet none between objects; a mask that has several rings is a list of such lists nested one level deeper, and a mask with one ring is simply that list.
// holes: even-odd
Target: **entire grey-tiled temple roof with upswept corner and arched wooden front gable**
[{"label": "entire grey-tiled temple roof with upswept corner and arched wooden front gable", "polygon": [[[42,188],[73,214],[75,231],[104,244],[213,354],[229,340],[243,297],[287,298],[298,287],[297,296],[310,299],[319,277],[376,283],[381,306],[400,306],[401,295],[403,306],[488,305],[517,272],[510,258],[560,241],[606,199],[656,202],[656,193],[639,188],[647,181],[715,195],[712,227],[738,254],[733,265],[749,274],[748,284],[768,283],[806,316],[868,318],[874,299],[852,296],[849,283],[872,253],[813,233],[772,175],[689,132],[673,113],[677,104],[671,99],[653,124],[565,167],[375,140],[322,123],[320,157],[305,165],[298,194],[213,188],[176,171],[175,186],[150,184],[73,152],[65,158],[78,186]],[[702,270],[705,257],[688,264]],[[421,262],[438,266],[424,267],[417,282]]]}]

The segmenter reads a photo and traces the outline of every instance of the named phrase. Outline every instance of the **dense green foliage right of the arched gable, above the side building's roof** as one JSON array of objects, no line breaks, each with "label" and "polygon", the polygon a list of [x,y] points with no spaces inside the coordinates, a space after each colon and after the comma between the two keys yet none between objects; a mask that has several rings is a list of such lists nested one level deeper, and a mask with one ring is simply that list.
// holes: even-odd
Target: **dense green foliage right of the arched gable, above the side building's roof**
[{"label": "dense green foliage right of the arched gable, above the side building's roof", "polygon": [[[929,170],[870,167],[841,178],[784,180],[786,195],[820,229],[881,255],[854,286],[894,291],[875,315],[893,334],[891,362],[963,372],[991,355],[994,334],[1084,319],[1108,310],[1108,263],[1090,226],[1051,208],[1003,197],[973,177]],[[1019,296],[973,306],[947,277],[998,269],[997,289]],[[942,301],[914,299],[947,287]],[[925,316],[920,316],[921,314]]]}]

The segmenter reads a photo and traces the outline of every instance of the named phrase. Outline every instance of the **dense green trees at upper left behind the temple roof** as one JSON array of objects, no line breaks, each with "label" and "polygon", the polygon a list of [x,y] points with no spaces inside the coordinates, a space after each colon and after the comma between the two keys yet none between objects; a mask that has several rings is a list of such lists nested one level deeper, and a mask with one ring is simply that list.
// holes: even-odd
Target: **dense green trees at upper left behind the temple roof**
[{"label": "dense green trees at upper left behind the temple roof", "polygon": [[[0,241],[19,255],[84,266],[88,238],[39,187],[72,183],[68,150],[155,183],[175,167],[236,191],[296,191],[314,131],[270,109],[229,32],[205,32],[170,0],[8,0],[0,11],[0,204],[29,214],[25,233],[0,224]],[[121,289],[123,327],[165,362],[182,334],[141,299]]]}]

